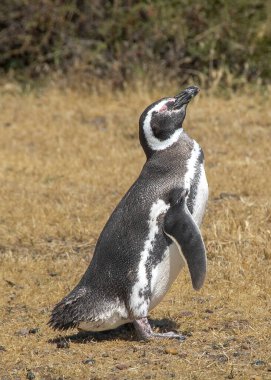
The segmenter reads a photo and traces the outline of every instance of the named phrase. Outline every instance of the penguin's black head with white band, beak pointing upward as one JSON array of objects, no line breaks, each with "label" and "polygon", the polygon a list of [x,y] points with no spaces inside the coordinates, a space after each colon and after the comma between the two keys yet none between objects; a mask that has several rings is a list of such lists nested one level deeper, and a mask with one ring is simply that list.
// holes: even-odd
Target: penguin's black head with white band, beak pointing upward
[{"label": "penguin's black head with white band, beak pointing upward", "polygon": [[147,155],[177,142],[182,133],[186,107],[198,92],[198,87],[190,86],[180,94],[160,99],[145,109],[139,119],[139,138]]}]

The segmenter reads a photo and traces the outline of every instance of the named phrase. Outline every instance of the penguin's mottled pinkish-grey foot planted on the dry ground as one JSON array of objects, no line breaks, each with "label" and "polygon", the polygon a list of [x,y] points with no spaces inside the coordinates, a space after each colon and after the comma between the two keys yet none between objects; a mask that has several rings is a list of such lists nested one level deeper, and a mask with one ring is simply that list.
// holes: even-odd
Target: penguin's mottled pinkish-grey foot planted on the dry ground
[{"label": "penguin's mottled pinkish-grey foot planted on the dry ground", "polygon": [[185,340],[185,336],[182,334],[174,333],[169,331],[166,333],[154,333],[149,324],[148,318],[135,319],[133,321],[134,327],[136,329],[137,336],[140,340],[150,340],[152,338],[165,338],[165,339],[178,339]]}]

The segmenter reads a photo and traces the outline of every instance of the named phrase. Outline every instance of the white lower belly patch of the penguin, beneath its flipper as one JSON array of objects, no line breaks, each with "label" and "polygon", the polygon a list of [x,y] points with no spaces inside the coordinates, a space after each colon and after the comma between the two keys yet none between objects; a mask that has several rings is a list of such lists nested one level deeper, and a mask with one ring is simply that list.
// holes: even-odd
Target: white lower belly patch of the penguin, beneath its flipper
[{"label": "white lower belly patch of the penguin, beneath its flipper", "polygon": [[161,302],[184,266],[184,259],[176,244],[172,243],[167,247],[164,259],[152,270],[149,310]]}]

